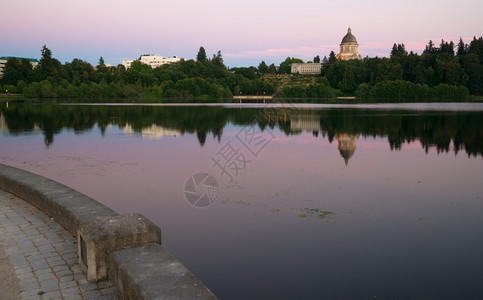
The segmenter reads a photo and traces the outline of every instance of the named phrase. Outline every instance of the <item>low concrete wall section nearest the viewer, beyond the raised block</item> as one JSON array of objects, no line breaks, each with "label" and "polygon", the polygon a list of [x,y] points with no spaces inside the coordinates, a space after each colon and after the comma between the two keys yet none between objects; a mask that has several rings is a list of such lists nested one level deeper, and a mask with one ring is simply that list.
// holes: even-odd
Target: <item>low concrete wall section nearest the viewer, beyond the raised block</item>
[{"label": "low concrete wall section nearest the viewer, beyond the raised block", "polygon": [[109,280],[122,299],[218,299],[159,244],[112,252]]}]

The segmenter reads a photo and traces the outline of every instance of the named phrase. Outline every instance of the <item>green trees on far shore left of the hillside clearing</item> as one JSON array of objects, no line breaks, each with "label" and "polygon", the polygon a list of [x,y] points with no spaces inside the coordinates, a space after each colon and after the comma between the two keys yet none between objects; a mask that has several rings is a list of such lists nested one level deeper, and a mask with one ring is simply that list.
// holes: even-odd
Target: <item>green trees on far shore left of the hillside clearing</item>
[{"label": "green trees on far shore left of the hillside clearing", "polygon": [[[130,68],[97,66],[81,59],[61,64],[45,45],[36,68],[26,59],[9,58],[0,82],[2,91],[29,98],[231,98],[233,95],[274,93],[260,76],[244,76],[244,68],[228,70],[220,51],[207,58],[203,47],[196,60],[181,60],[156,68],[134,61]],[[111,100],[112,101],[112,100]]]}]

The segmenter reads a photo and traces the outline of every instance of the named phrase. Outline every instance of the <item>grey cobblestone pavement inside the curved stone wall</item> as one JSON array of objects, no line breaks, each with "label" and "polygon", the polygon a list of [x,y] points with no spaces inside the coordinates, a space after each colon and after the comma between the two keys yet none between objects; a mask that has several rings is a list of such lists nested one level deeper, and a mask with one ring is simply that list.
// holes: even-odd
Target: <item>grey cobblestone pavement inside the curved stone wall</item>
[{"label": "grey cobblestone pavement inside the curved stone wall", "polygon": [[[110,282],[89,283],[76,239],[26,201],[0,189],[0,299],[117,299]],[[6,279],[7,278],[7,279]],[[7,287],[2,285],[8,284]]]}]

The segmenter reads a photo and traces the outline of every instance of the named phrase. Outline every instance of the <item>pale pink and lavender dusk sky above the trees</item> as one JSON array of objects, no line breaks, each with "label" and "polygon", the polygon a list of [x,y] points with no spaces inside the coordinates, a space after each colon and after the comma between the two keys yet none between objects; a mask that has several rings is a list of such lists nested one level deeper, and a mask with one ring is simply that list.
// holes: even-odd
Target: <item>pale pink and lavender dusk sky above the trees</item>
[{"label": "pale pink and lavender dusk sky above the trees", "polygon": [[394,43],[421,53],[429,40],[483,36],[481,0],[2,0],[0,56],[117,65],[142,54],[192,59],[203,46],[229,67],[279,65],[339,52],[351,27],[362,57]]}]

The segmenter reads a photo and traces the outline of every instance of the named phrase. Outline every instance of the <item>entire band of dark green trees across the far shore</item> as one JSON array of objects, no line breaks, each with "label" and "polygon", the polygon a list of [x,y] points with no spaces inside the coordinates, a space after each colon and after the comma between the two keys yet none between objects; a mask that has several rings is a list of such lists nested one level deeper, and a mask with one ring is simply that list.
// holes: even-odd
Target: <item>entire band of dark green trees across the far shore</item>
[{"label": "entire band of dark green trees across the far shore", "polygon": [[[455,51],[456,49],[456,51]],[[314,61],[320,61],[318,56]],[[221,52],[208,58],[200,47],[195,60],[182,60],[151,68],[139,61],[125,69],[107,67],[101,57],[96,67],[80,60],[61,64],[44,46],[36,68],[28,60],[10,58],[5,66],[1,91],[30,98],[161,98],[222,99],[233,95],[273,95],[287,98],[320,99],[341,95],[357,98],[393,98],[419,101],[430,98],[465,98],[483,94],[483,38],[458,45],[429,41],[424,52],[408,53],[404,44],[394,44],[389,58],[339,61],[332,51],[322,60],[320,80],[306,76],[302,81],[284,82],[274,74],[290,73],[290,58],[277,69],[262,61],[258,67],[227,69]],[[300,78],[298,78],[300,79]]]}]

